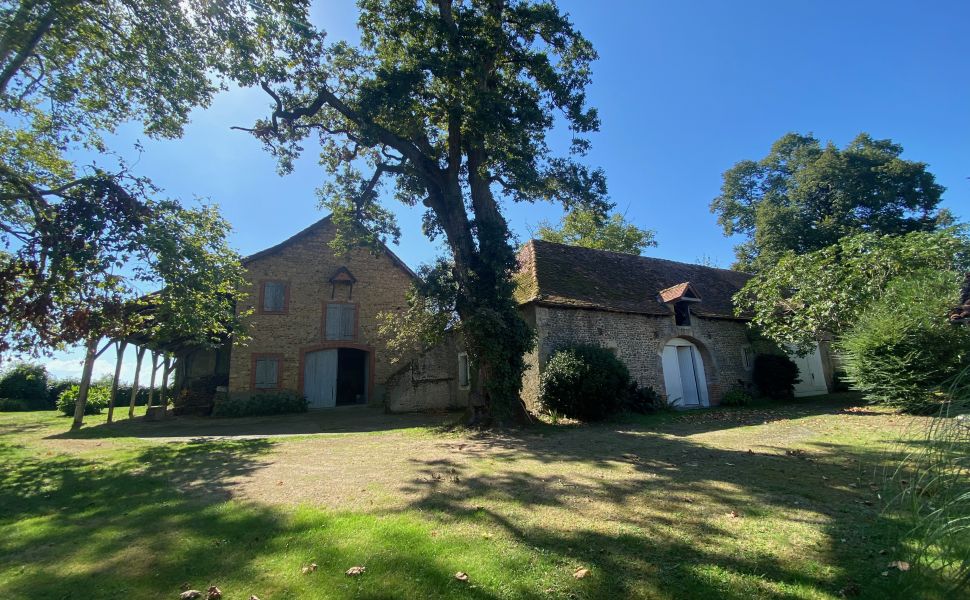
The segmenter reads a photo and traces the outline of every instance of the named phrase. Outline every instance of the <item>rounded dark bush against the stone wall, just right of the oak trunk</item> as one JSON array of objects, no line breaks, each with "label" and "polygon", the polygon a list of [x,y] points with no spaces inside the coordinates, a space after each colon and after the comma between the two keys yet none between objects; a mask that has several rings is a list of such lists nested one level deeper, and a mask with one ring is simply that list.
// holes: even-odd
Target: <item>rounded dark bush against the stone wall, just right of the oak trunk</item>
[{"label": "rounded dark bush against the stone wall, just right of the oak trunk", "polygon": [[596,421],[620,410],[629,389],[630,372],[612,352],[599,346],[567,346],[546,364],[539,402],[545,411]]}]

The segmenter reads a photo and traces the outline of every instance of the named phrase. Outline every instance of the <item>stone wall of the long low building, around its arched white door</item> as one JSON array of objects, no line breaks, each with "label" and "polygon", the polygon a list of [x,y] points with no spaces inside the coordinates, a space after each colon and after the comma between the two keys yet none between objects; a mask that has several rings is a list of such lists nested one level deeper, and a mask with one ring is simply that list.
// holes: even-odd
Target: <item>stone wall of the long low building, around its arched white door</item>
[{"label": "stone wall of the long low building, around its arched white door", "polygon": [[[678,327],[670,317],[541,305],[523,307],[523,316],[537,330],[536,349],[526,355],[530,366],[523,381],[523,400],[530,408],[539,396],[539,377],[556,349],[569,343],[596,344],[612,349],[640,386],[665,395],[661,354],[672,338],[694,343],[704,359],[711,404],[738,382],[748,384],[751,371],[744,364],[748,346],[746,325],[732,319],[691,316],[690,327]],[[534,375],[532,375],[534,373]]]}]

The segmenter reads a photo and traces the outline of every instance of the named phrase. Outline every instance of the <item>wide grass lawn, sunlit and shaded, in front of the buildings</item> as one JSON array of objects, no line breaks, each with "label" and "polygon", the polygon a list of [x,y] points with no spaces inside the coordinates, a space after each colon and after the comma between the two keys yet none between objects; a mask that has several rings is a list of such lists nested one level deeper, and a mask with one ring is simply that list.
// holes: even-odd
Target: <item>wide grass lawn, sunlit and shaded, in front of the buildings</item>
[{"label": "wide grass lawn, sunlit and shaded, in front of the buildings", "polygon": [[0,598],[944,597],[887,568],[921,419],[851,397],[485,434],[88,420],[0,414]]}]

